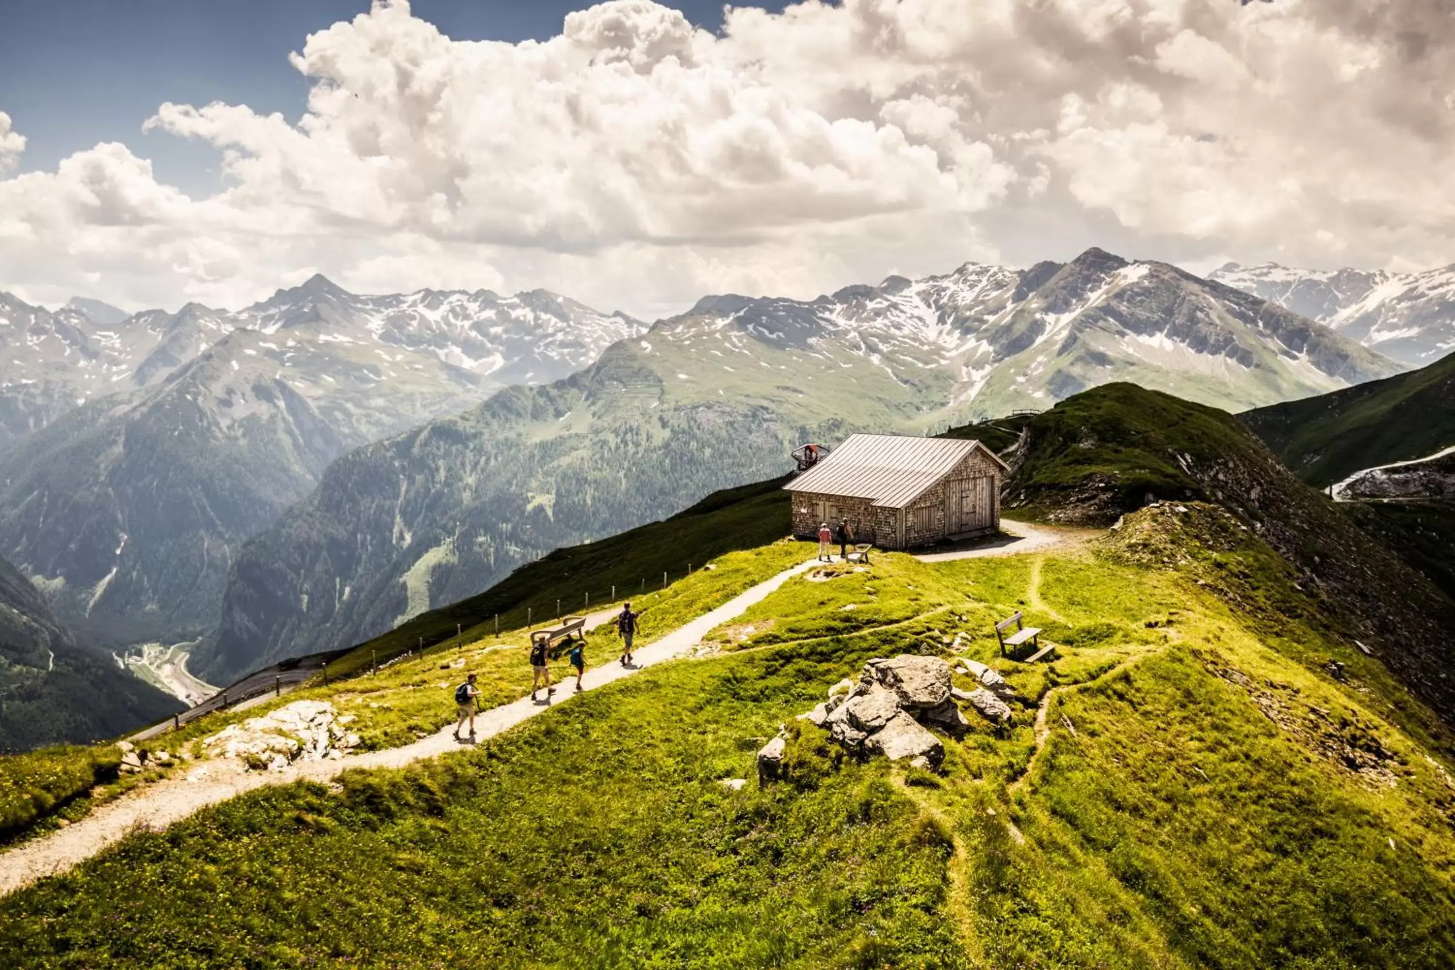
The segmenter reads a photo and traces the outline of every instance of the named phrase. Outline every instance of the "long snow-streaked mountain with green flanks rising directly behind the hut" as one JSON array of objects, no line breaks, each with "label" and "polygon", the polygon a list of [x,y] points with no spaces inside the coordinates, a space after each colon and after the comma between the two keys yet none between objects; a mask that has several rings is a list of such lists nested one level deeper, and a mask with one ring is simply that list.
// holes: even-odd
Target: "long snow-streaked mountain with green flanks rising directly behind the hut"
[{"label": "long snow-streaked mountain with green flanks rising directly behind the hut", "polygon": [[717,295],[585,371],[335,461],[239,553],[217,676],[383,633],[551,548],[786,471],[854,430],[924,433],[1132,380],[1224,407],[1400,368],[1163,263],[1090,250],[812,301]]}]

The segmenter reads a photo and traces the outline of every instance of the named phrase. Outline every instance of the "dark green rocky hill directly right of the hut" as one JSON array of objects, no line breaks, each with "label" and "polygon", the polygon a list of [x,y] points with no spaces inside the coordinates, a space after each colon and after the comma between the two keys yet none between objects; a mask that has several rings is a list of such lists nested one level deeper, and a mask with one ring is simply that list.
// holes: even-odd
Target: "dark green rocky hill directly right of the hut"
[{"label": "dark green rocky hill directly right of the hut", "polygon": [[1455,604],[1299,481],[1237,417],[1113,384],[1036,416],[1007,484],[1007,515],[1110,524],[1148,497],[1235,513],[1426,702],[1455,716]]}]

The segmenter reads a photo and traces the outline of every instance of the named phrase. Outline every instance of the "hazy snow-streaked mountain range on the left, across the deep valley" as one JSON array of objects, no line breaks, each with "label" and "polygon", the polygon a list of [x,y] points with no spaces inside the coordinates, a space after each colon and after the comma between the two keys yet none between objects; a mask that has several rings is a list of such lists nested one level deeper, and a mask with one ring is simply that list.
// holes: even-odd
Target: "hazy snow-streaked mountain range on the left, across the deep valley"
[{"label": "hazy snow-streaked mountain range on the left, across the deep valley", "polygon": [[[122,638],[210,625],[236,550],[345,451],[645,330],[541,291],[356,297],[322,276],[236,313],[103,329],[10,300],[0,318],[19,337],[0,407],[32,432],[0,454],[0,548],[68,622]],[[38,388],[48,409],[22,397]]]}]

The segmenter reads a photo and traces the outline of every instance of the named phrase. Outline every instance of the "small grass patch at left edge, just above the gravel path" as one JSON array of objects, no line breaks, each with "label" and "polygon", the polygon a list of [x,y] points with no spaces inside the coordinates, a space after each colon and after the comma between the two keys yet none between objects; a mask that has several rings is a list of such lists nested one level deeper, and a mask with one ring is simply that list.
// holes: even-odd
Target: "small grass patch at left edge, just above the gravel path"
[{"label": "small grass patch at left edge, just above the gravel path", "polygon": [[111,746],[0,756],[0,842],[51,819],[93,787],[115,781],[119,765],[121,752]]}]

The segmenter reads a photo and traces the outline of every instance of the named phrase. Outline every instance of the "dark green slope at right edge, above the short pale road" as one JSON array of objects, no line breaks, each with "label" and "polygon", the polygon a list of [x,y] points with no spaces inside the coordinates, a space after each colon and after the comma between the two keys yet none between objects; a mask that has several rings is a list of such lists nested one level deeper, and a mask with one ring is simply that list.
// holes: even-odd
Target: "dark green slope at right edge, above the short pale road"
[{"label": "dark green slope at right edge, above the short pale road", "polygon": [[1299,477],[1317,486],[1455,445],[1455,353],[1382,381],[1241,414]]}]

